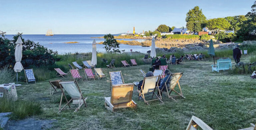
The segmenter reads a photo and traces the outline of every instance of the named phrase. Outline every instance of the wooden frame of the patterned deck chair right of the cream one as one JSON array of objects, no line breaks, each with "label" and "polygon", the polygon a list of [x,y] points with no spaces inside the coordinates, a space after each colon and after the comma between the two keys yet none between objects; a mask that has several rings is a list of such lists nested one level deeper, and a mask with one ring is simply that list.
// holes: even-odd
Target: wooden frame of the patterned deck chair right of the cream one
[{"label": "wooden frame of the patterned deck chair right of the cream one", "polygon": [[[178,74],[178,73],[172,73],[172,75],[175,75],[175,74]],[[176,81],[175,85],[172,86],[172,88],[171,88],[171,90],[170,90],[170,93],[168,92],[168,87],[167,87],[167,84],[165,83],[165,89],[166,89],[166,93],[168,94],[168,98],[173,99],[173,100],[175,100],[173,97],[176,97],[176,96],[181,96],[181,97],[183,97],[183,98],[186,98],[186,97],[183,96],[183,93],[182,93],[181,88],[180,88],[180,83],[179,83],[179,80],[180,80],[180,78],[182,77],[182,74],[183,74],[183,72],[181,72],[181,75],[180,75],[180,77],[178,78],[178,80]],[[171,80],[171,79],[170,79],[170,80]],[[178,86],[179,86],[180,93],[178,93],[177,91],[174,90],[174,88],[176,87],[177,84],[178,84]],[[163,92],[163,89],[164,89],[164,87],[161,89],[161,91],[160,91],[161,93]],[[170,94],[172,93],[172,91],[175,92],[177,95],[170,96]],[[176,100],[175,100],[175,101],[176,101]]]}]

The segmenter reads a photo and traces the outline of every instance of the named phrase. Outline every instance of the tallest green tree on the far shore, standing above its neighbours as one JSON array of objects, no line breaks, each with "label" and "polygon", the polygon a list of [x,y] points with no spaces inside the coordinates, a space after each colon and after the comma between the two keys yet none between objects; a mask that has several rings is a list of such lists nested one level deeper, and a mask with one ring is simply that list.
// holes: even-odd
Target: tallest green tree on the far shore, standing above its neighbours
[{"label": "tallest green tree on the far shore, standing above its neighbours", "polygon": [[[199,6],[195,6],[189,10],[186,14],[186,26],[189,31],[199,32],[202,30],[206,17],[203,14],[202,9]],[[200,27],[200,28],[199,28]]]}]

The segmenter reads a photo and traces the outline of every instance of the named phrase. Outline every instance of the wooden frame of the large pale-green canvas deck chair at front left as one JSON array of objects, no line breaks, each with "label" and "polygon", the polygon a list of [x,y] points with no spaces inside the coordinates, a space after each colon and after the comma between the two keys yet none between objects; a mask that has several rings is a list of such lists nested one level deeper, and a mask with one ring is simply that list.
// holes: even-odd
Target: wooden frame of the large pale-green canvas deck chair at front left
[{"label": "wooden frame of the large pale-green canvas deck chair at front left", "polygon": [[[80,88],[79,88],[79,86],[78,86],[77,81],[75,80],[75,81],[64,81],[64,82],[74,82],[74,83],[75,83],[75,85],[76,85],[76,87],[77,87],[77,89],[78,89],[78,91],[79,91],[79,93],[80,93],[80,98],[74,98],[74,99],[79,99],[79,105],[78,105],[77,108],[72,108],[72,107],[70,106],[71,101],[74,100],[74,99],[71,98],[71,99],[68,101],[68,99],[67,99],[67,97],[66,97],[66,95],[65,95],[65,93],[64,93],[64,90],[62,89],[63,87],[62,87],[61,83],[63,83],[63,82],[59,82],[59,83],[60,83],[60,86],[61,86],[60,89],[61,89],[61,92],[62,92],[61,98],[60,98],[59,112],[61,112],[62,110],[69,110],[69,109],[75,109],[74,112],[76,112],[76,111],[78,111],[78,110],[80,109],[80,107],[81,107],[83,104],[85,105],[85,107],[87,107],[86,100],[87,100],[88,97],[86,97],[86,98],[83,97],[82,92],[81,92],[81,90],[80,90]],[[64,96],[64,98],[65,98],[65,100],[66,100],[67,103],[61,108],[61,103],[62,103],[63,96]],[[81,100],[82,100],[82,102],[81,102]],[[69,106],[69,108],[65,108],[67,105]],[[58,113],[59,113],[59,112],[58,112]]]}]

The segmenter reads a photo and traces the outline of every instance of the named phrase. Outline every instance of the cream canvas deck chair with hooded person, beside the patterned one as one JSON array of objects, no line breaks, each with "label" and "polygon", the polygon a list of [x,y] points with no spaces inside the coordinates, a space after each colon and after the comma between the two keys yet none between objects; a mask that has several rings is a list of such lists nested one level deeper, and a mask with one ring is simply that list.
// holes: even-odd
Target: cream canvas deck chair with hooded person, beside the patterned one
[{"label": "cream canvas deck chair with hooded person, beside the patterned one", "polygon": [[[158,80],[157,80],[158,77]],[[149,105],[149,101],[153,101],[153,100],[159,100],[161,103],[164,103],[161,99],[161,95],[160,98],[155,94],[155,89],[158,89],[158,92],[160,93],[159,87],[158,87],[158,82],[159,82],[160,76],[152,76],[152,77],[145,77],[142,83],[142,87],[141,90],[137,90],[139,93],[139,98],[140,96],[143,98],[144,102]],[[156,83],[157,83],[157,87],[156,87]],[[149,95],[152,94],[152,100],[146,100],[145,99],[145,95]],[[157,99],[153,99],[154,95],[157,97]],[[138,98],[138,100],[139,100]]]}]

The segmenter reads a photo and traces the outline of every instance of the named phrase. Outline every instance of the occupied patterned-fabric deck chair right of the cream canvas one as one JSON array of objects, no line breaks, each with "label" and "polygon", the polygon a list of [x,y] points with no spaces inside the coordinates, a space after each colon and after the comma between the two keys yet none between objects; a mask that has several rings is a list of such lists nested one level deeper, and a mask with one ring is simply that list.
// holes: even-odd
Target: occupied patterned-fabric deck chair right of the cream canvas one
[{"label": "occupied patterned-fabric deck chair right of the cream canvas one", "polygon": [[[168,84],[169,84],[170,93],[168,92],[168,85],[165,83],[165,89],[166,89],[166,92],[167,92],[167,94],[168,94],[168,98],[173,99],[173,100],[175,100],[173,97],[176,97],[176,96],[181,96],[181,97],[185,98],[185,97],[183,96],[183,94],[182,94],[182,91],[181,91],[181,88],[180,88],[180,83],[179,83],[179,80],[180,80],[182,74],[183,74],[183,72],[181,72],[181,73],[172,73],[172,74],[171,74],[172,78],[170,79],[170,82],[168,83]],[[175,86],[176,86],[177,84],[178,84],[178,86],[179,86],[180,93],[178,93],[177,91],[174,90],[174,88],[175,88]],[[164,89],[164,88],[162,88],[160,92],[162,92],[163,89]],[[172,91],[175,92],[177,95],[170,96],[171,93],[172,93]],[[176,101],[176,100],[175,100],[175,101]]]}]

